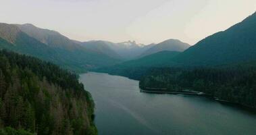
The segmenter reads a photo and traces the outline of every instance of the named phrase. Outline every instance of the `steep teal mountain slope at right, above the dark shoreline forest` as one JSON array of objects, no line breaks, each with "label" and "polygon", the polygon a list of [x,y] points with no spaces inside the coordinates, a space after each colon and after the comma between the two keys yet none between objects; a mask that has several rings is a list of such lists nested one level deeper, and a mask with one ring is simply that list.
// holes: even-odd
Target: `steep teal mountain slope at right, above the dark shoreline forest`
[{"label": "steep teal mountain slope at right, above the dark shoreline forest", "polygon": [[181,65],[220,65],[256,59],[256,13],[225,31],[199,41],[173,61]]}]

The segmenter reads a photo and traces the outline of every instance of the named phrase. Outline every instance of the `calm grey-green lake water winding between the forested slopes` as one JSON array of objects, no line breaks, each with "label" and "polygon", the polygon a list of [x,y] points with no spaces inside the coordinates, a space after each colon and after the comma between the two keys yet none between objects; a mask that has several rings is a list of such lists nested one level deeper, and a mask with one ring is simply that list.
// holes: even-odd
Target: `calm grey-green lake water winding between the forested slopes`
[{"label": "calm grey-green lake water winding between the forested slopes", "polygon": [[96,103],[100,135],[256,134],[256,114],[206,97],[140,92],[138,81],[89,72],[80,75]]}]

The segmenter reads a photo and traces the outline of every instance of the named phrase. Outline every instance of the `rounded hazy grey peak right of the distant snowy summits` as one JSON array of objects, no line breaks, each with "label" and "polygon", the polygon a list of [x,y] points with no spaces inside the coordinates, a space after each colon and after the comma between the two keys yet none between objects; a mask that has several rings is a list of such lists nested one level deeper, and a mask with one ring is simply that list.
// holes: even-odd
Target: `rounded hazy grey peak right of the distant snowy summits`
[{"label": "rounded hazy grey peak right of the distant snowy summits", "polygon": [[157,53],[160,51],[180,51],[180,52],[182,52],[182,51],[188,49],[188,47],[190,47],[190,45],[188,45],[187,43],[182,43],[181,41],[179,41],[177,39],[169,39],[167,41],[163,41],[162,43],[154,45],[150,49],[147,49],[147,51],[142,53],[140,55],[140,57],[151,55],[153,53]]}]

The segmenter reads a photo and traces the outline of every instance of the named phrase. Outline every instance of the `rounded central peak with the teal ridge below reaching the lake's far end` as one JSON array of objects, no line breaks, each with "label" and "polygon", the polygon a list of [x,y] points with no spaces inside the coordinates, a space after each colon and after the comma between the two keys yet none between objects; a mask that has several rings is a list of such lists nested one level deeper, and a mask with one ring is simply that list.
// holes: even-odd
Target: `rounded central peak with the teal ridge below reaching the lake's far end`
[{"label": "rounded central peak with the teal ridge below reaching the lake's far end", "polygon": [[144,50],[136,59],[124,61],[108,67],[97,68],[93,71],[107,72],[109,74],[126,76],[128,78],[139,80],[140,77],[151,68],[163,68],[174,65],[172,59],[180,54],[180,51],[184,51],[184,49],[187,49],[188,47],[190,47],[190,45],[182,43],[179,40],[169,39],[157,45],[151,44],[143,46],[142,49]]}]

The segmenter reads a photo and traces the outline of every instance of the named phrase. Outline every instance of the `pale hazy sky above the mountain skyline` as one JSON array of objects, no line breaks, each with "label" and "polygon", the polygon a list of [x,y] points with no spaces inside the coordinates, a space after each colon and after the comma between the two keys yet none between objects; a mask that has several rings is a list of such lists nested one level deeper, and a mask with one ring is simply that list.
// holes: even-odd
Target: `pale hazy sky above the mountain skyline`
[{"label": "pale hazy sky above the mountain skyline", "polygon": [[0,22],[30,23],[78,41],[194,45],[256,11],[256,0],[0,0]]}]

